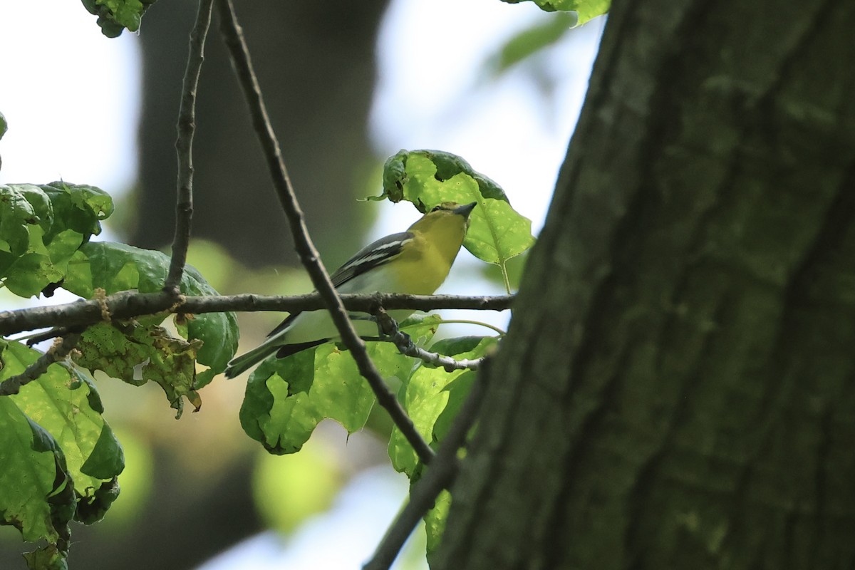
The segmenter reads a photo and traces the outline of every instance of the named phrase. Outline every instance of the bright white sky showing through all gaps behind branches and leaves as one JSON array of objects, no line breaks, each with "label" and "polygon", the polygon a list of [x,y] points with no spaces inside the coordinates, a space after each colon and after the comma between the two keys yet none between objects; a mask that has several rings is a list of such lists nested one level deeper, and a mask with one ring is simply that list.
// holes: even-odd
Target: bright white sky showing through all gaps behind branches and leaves
[{"label": "bright white sky showing through all gaps behind branches and leaves", "polygon": [[[119,193],[133,185],[137,169],[139,38],[127,32],[103,38],[95,18],[74,0],[38,4],[36,20],[29,3],[0,3],[0,112],[9,122],[0,140],[0,184],[65,179]],[[485,69],[514,32],[548,17],[533,3],[392,0],[378,38],[380,77],[370,123],[378,154],[439,149],[463,156],[502,185],[537,232],[603,22],[569,33],[498,79]],[[442,81],[426,81],[406,64],[426,55],[442,63]],[[399,218],[380,216],[370,238],[400,225]],[[463,258],[459,262],[472,262]],[[442,291],[482,295],[482,286],[451,279]],[[5,298],[0,303],[7,305]],[[288,542],[262,535],[203,570],[323,567],[324,561],[312,557],[321,551],[321,534],[327,540],[330,533],[339,536],[339,544],[373,544],[405,496],[400,478],[391,467],[365,473],[351,481],[330,513],[311,520]],[[359,526],[355,516],[373,532],[370,537],[353,535]],[[357,568],[366,556],[357,546],[336,550],[350,557],[328,561],[327,567]]]}]

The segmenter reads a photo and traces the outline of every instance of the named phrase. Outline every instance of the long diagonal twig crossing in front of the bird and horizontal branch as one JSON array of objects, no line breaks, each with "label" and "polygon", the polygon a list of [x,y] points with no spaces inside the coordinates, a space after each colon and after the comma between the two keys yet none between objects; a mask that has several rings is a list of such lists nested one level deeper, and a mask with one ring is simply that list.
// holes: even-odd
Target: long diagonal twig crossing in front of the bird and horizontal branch
[{"label": "long diagonal twig crossing in front of the bird and horizontal branch", "polygon": [[264,156],[268,162],[268,168],[273,178],[276,193],[279,196],[282,209],[291,228],[292,238],[300,260],[312,279],[312,285],[320,293],[327,303],[330,316],[341,335],[342,342],[351,350],[351,356],[357,362],[359,373],[368,380],[377,402],[386,408],[398,429],[404,434],[416,454],[424,463],[429,463],[433,458],[433,450],[416,430],[412,420],[398,403],[398,398],[388,389],[380,371],[374,366],[365,350],[365,343],[353,328],[347,315],[345,305],[341,302],[329,273],[324,268],[321,258],[315,250],[315,245],[306,229],[303,211],[297,200],[291,180],[288,178],[285,162],[282,160],[279,143],[277,142],[273,127],[268,120],[267,109],[265,109],[258,80],[252,69],[249,51],[247,50],[243,32],[240,29],[234,8],[230,0],[218,0],[218,12],[220,14],[220,25],[223,38],[227,48],[232,55],[232,62],[238,75],[238,80],[244,90],[246,102],[250,107],[252,124],[255,127],[258,138],[264,150]]}]

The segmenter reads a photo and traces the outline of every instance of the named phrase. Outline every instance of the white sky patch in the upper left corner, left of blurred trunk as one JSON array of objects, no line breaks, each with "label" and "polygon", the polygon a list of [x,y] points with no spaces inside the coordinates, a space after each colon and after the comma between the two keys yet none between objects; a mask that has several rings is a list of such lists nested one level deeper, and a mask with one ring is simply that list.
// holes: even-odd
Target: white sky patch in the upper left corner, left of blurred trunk
[{"label": "white sky patch in the upper left corner, left of blurred trunk", "polygon": [[138,38],[104,38],[95,20],[74,0],[0,2],[0,184],[133,184]]}]

